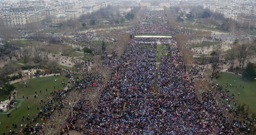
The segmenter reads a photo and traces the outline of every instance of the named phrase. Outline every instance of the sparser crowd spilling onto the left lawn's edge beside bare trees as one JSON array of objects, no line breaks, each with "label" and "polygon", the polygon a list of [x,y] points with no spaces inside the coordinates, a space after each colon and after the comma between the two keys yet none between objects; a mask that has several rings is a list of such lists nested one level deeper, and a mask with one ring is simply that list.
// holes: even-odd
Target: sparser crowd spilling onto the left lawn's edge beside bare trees
[{"label": "sparser crowd spilling onto the left lawn's edge beside bare trees", "polygon": [[[70,74],[73,76],[75,72],[66,70],[65,74]],[[64,87],[70,86],[73,83],[75,83],[75,81],[70,78],[68,79],[67,84],[63,86]],[[47,92],[48,90],[46,89],[45,91]],[[30,116],[30,114],[28,114],[27,116],[22,116],[21,118],[22,124],[18,126],[21,128],[21,130],[19,132],[17,131],[15,132],[19,134],[36,134],[36,135],[42,134],[42,128],[43,128],[42,122],[43,123],[47,122],[51,114],[56,109],[61,109],[63,107],[63,99],[65,99],[66,93],[68,92],[69,92],[69,89],[58,90],[57,88],[54,87],[54,91],[50,92],[50,95],[46,94],[44,96],[44,99],[41,99],[41,102],[38,104],[39,107],[37,107],[38,113],[36,115]],[[43,94],[41,90],[39,92],[35,91],[35,93],[38,95]],[[23,98],[25,99],[25,96],[23,96]],[[30,106],[27,106],[27,109],[30,109]],[[35,122],[36,124],[33,125],[32,122],[33,123]],[[17,124],[13,124],[13,125],[16,125],[14,127],[17,128]],[[14,131],[11,131],[11,133],[14,134]]]}]

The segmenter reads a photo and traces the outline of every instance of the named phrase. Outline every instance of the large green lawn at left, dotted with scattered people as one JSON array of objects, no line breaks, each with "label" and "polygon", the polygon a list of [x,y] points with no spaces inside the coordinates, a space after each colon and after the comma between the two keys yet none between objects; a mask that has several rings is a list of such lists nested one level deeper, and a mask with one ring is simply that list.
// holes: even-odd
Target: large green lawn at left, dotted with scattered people
[{"label": "large green lawn at left, dotted with scattered people", "polygon": [[[55,82],[54,80],[57,81]],[[40,106],[40,100],[43,99],[43,101],[47,101],[47,99],[44,97],[46,95],[50,96],[50,92],[53,92],[54,90],[58,90],[57,84],[59,84],[59,88],[63,89],[62,81],[65,79],[65,83],[67,83],[67,78],[65,78],[65,75],[60,75],[59,77],[49,76],[49,77],[39,77],[34,78],[28,81],[28,88],[25,88],[24,85],[20,82],[14,83],[17,91],[17,99],[23,99],[22,96],[25,96],[25,101],[22,103],[22,105],[17,108],[17,110],[13,110],[11,112],[11,117],[7,117],[6,115],[0,115],[0,133],[2,134],[5,132],[5,134],[8,134],[7,132],[12,131],[20,131],[20,125],[25,125],[26,123],[30,123],[30,120],[27,121],[26,117],[28,114],[30,114],[30,119],[32,121],[34,115],[39,112],[41,109]],[[55,89],[54,89],[55,86]],[[48,89],[46,91],[46,89]],[[40,93],[39,91],[42,91]],[[34,98],[35,91],[37,92],[38,97]],[[28,99],[26,98],[28,97]],[[56,102],[54,102],[57,104]],[[30,109],[27,109],[27,106],[30,106]],[[37,107],[39,107],[39,110],[37,110]],[[25,123],[22,122],[22,116],[25,117]],[[44,121],[41,121],[41,119],[37,119],[36,122],[32,123],[33,125],[36,123],[43,123]],[[12,124],[17,124],[18,128],[12,128]],[[6,129],[5,125],[9,125],[9,128]]]}]

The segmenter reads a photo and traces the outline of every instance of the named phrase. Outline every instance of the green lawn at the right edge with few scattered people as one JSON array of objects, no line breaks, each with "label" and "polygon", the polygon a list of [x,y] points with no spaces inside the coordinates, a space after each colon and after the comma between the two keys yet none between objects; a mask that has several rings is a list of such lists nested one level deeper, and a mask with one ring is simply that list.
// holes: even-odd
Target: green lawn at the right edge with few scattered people
[{"label": "green lawn at the right edge with few scattered people", "polygon": [[[237,99],[237,106],[239,104],[246,104],[252,110],[252,112],[256,113],[256,80],[254,81],[244,81],[241,75],[235,75],[232,73],[223,72],[219,74],[220,77],[215,81],[215,83],[219,83],[225,89],[226,83],[228,83],[228,90],[230,91],[229,94],[232,95],[234,93],[235,98]],[[234,87],[230,87],[230,84]],[[241,84],[241,87],[240,87]],[[236,87],[237,86],[237,87]],[[244,88],[242,88],[244,86]],[[240,92],[240,96],[238,93]],[[234,105],[231,101],[230,105]],[[247,106],[245,108],[247,108]]]}]

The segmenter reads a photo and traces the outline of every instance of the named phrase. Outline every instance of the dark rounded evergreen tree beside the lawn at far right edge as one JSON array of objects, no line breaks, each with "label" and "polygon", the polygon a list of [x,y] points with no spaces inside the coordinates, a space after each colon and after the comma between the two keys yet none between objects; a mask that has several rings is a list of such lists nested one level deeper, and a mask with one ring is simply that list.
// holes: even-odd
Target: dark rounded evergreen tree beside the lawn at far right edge
[{"label": "dark rounded evergreen tree beside the lawn at far right edge", "polygon": [[255,66],[251,62],[247,64],[245,70],[242,72],[242,77],[248,81],[254,80],[256,77]]}]

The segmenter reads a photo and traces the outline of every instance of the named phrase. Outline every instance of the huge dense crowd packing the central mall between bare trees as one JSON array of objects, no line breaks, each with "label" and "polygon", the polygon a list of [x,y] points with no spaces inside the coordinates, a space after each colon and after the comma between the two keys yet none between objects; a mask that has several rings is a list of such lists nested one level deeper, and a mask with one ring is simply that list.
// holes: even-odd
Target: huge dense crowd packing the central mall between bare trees
[{"label": "huge dense crowd packing the central mall between bare trees", "polygon": [[[168,25],[163,11],[148,11],[137,33],[179,33]],[[98,77],[75,82],[83,95],[65,127],[84,135],[249,133],[245,123],[226,117],[216,102],[216,93],[203,92],[202,101],[198,100],[194,81],[204,78],[204,67],[191,66],[193,77],[185,80],[185,64],[181,49],[172,44],[175,41],[175,38],[135,37],[120,59],[114,53],[109,58],[102,55],[103,65],[111,69],[110,81],[106,86],[98,84]],[[160,57],[156,86],[158,43],[168,49]],[[91,107],[90,96],[85,94],[90,87],[99,92],[96,108]]]}]

